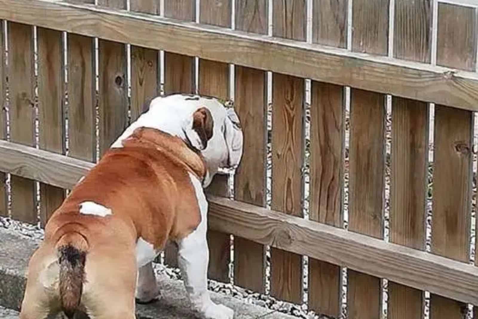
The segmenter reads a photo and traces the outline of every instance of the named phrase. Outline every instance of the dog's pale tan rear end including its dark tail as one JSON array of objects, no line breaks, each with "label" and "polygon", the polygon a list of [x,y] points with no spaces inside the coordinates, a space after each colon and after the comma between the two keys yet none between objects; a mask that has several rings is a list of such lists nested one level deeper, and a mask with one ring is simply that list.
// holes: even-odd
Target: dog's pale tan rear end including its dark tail
[{"label": "dog's pale tan rear end including its dark tail", "polygon": [[[130,237],[108,242],[108,232],[80,233],[45,236],[30,259],[20,319],[45,319],[60,312],[72,319],[77,311],[92,318],[135,318],[134,242]],[[93,237],[105,245],[92,247],[88,242]],[[126,256],[121,264],[116,249]]]}]

